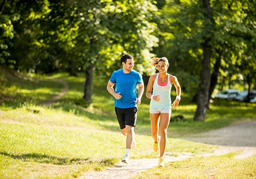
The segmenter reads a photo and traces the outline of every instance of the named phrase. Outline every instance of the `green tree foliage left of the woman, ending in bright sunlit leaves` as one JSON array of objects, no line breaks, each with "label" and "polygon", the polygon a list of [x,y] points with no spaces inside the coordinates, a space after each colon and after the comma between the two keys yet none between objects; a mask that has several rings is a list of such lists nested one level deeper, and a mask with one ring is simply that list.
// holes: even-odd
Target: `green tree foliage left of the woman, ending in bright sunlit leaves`
[{"label": "green tree foliage left of the woman, ending in bright sunlit leaves", "polygon": [[[131,53],[138,61],[136,69],[148,74],[152,68],[146,59],[158,42],[152,35],[155,11],[150,1],[141,0],[8,3],[2,18],[9,18],[6,24],[13,27],[7,31],[3,26],[3,36],[9,33],[13,39],[3,48],[9,48],[6,55],[11,54],[15,70],[49,73],[68,69],[73,62],[76,71],[84,71],[93,63],[96,73],[105,77],[119,68],[123,53]],[[13,12],[20,17],[16,21],[10,18]]]}]

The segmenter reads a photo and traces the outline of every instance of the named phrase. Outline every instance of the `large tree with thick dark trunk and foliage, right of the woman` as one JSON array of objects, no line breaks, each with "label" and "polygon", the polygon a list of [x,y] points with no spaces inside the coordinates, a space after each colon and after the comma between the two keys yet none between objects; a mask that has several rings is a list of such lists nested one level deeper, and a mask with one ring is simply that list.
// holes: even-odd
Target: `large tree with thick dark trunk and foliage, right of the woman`
[{"label": "large tree with thick dark trunk and foliage, right of the woman", "polygon": [[[241,60],[241,54],[244,58],[254,59],[245,50],[248,47],[252,47],[250,51],[254,49],[253,10],[253,3],[246,0],[229,3],[222,0],[169,0],[162,8],[161,36],[156,53],[171,56],[171,64],[177,71],[185,71],[183,76],[186,73],[190,74],[189,78],[200,76],[196,121],[205,120],[210,96],[223,78],[220,74],[230,79],[231,85],[239,75],[236,63]],[[251,39],[250,42],[245,37]]]}]

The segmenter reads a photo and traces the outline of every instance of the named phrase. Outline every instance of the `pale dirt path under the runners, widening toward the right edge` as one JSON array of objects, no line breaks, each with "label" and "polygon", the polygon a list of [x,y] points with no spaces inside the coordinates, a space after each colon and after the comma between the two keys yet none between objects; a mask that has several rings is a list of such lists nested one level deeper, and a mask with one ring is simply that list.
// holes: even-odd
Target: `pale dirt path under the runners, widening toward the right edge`
[{"label": "pale dirt path under the runners, widening toward the right edge", "polygon": [[[240,151],[236,159],[244,159],[256,154],[256,121],[243,121],[230,126],[212,130],[200,135],[194,135],[189,138],[183,138],[188,141],[208,143],[218,145],[214,153],[208,153],[198,156],[223,155],[232,151]],[[174,162],[188,159],[190,153],[179,153],[177,157],[170,156],[172,153],[166,152],[165,162]],[[105,171],[93,171],[84,173],[79,179],[119,179],[130,178],[138,173],[157,167],[158,159],[139,159],[130,160],[129,165],[119,162],[116,166],[108,168]]]}]

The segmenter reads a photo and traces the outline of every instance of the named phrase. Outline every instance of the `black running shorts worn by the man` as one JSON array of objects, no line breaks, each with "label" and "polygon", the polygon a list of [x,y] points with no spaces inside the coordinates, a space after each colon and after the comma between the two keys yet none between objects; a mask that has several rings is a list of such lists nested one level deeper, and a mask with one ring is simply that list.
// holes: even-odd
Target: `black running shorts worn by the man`
[{"label": "black running shorts worn by the man", "polygon": [[120,129],[124,129],[125,125],[130,125],[135,127],[137,121],[137,107],[131,108],[118,108],[115,107],[116,117],[120,126]]}]

